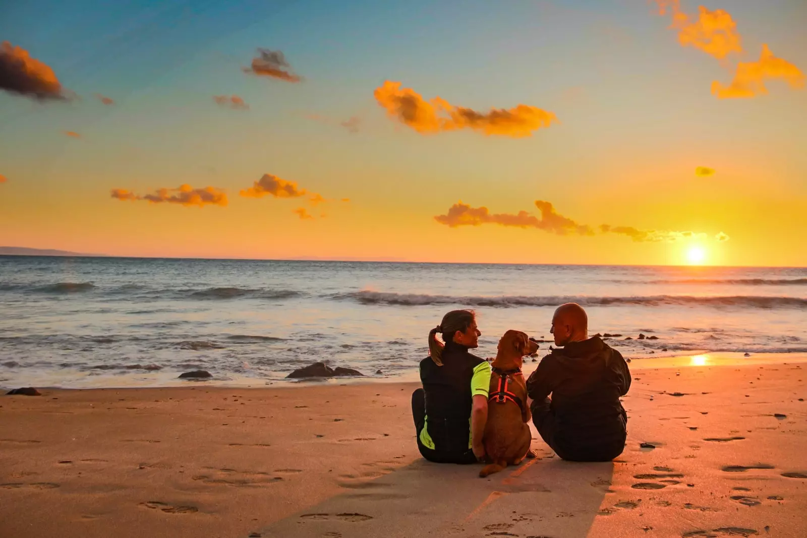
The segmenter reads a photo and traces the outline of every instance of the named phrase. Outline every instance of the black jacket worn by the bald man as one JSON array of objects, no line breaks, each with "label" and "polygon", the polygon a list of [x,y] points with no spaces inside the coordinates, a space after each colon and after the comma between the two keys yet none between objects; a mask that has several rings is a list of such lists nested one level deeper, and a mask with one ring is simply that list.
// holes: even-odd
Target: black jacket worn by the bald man
[{"label": "black jacket worn by the bald man", "polygon": [[619,398],[629,388],[625,359],[597,336],[554,349],[527,380],[533,400],[552,394],[554,444],[572,452],[625,443]]}]

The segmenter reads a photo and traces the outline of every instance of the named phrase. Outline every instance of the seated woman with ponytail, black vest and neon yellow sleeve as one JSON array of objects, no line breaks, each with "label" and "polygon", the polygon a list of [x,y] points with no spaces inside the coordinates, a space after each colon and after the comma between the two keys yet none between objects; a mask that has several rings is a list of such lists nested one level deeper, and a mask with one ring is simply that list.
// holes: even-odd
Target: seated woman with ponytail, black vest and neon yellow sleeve
[{"label": "seated woman with ponytail, black vest and neon yellow sleeve", "polygon": [[412,394],[417,448],[429,461],[476,463],[485,455],[491,365],[468,352],[481,335],[470,310],[450,311],[429,332],[430,354],[420,361],[423,388]]}]

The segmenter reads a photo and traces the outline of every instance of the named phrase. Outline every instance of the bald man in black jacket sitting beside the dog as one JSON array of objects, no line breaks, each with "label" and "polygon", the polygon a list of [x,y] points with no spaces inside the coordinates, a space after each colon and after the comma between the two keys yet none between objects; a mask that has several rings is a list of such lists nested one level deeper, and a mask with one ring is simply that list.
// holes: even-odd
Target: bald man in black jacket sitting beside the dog
[{"label": "bald man in black jacket sitting beside the dog", "polygon": [[533,423],[564,460],[613,460],[625,448],[628,417],[619,398],[630,388],[628,365],[599,336],[588,337],[588,316],[575,302],[558,307],[550,332],[561,348],[527,380]]}]

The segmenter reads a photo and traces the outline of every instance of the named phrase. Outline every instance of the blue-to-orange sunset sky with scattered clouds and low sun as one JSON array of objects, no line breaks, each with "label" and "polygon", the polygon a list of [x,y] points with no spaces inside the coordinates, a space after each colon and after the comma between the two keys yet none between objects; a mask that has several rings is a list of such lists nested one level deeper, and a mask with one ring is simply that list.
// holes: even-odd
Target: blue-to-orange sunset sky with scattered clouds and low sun
[{"label": "blue-to-orange sunset sky with scattered clouds and low sun", "polygon": [[0,7],[0,245],[807,265],[804,0],[69,3]]}]

